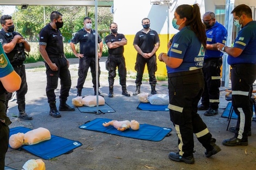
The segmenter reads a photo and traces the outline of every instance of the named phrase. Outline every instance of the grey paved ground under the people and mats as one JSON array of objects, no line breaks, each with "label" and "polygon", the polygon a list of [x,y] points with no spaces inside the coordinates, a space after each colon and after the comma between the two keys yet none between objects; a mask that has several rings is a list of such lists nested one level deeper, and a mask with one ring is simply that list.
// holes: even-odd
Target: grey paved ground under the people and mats
[{"label": "grey paved ground under the people and mats", "polygon": [[[72,86],[68,104],[76,97],[77,67],[78,59],[70,60],[70,73]],[[115,79],[114,97],[108,98],[107,71],[105,68],[106,58],[100,60],[101,77],[100,91],[105,95],[105,100],[116,112],[108,114],[87,114],[81,113],[76,108],[74,112],[62,111],[61,118],[53,118],[48,115],[48,103],[45,94],[46,75],[42,62],[36,64],[26,64],[28,93],[26,95],[29,115],[33,116],[32,121],[24,121],[16,118],[17,104],[10,102],[9,116],[13,123],[10,128],[24,126],[28,128],[44,127],[51,131],[51,134],[80,141],[83,146],[74,149],[74,152],[58,156],[52,160],[44,160],[46,169],[255,169],[256,167],[256,122],[252,122],[252,136],[249,137],[249,145],[246,147],[225,147],[221,144],[224,138],[233,137],[234,134],[226,131],[227,118],[222,118],[221,114],[227,106],[224,99],[225,92],[222,88],[219,114],[216,116],[203,116],[204,111],[198,111],[205,123],[208,125],[213,137],[217,139],[222,151],[211,158],[204,156],[204,148],[194,138],[194,165],[187,165],[183,162],[174,162],[168,159],[170,151],[178,150],[175,130],[172,136],[165,137],[160,142],[142,141],[121,136],[109,135],[95,131],[82,130],[78,126],[84,122],[92,121],[95,118],[110,118],[117,120],[136,119],[139,123],[152,124],[160,127],[170,127],[174,129],[169,120],[168,111],[141,111],[137,110],[139,104],[138,96],[125,97],[121,95],[121,87],[118,78]],[[39,68],[34,68],[39,67]],[[132,95],[135,91],[135,74],[131,73],[127,78],[127,90]],[[168,93],[167,82],[157,83],[156,90],[160,93]],[[148,81],[143,81],[142,92],[150,93]],[[59,87],[56,90],[59,96]],[[82,95],[93,95],[92,78],[88,73],[88,79],[84,84]],[[57,100],[57,106],[59,101]],[[231,120],[231,125],[235,125],[235,120]],[[6,165],[16,169],[22,169],[23,164],[29,159],[39,159],[25,151],[8,149],[6,155]]]}]

